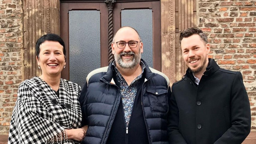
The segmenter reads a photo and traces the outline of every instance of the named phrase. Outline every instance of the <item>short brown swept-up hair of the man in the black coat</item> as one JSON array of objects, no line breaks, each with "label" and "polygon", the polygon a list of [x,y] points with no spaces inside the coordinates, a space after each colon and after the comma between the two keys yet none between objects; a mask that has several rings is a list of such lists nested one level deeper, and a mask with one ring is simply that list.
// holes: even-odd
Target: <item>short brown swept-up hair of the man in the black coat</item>
[{"label": "short brown swept-up hair of the man in the black coat", "polygon": [[190,37],[191,35],[199,35],[205,44],[208,43],[207,35],[204,34],[203,31],[197,27],[187,28],[187,29],[183,30],[180,33],[180,43],[184,37]]}]

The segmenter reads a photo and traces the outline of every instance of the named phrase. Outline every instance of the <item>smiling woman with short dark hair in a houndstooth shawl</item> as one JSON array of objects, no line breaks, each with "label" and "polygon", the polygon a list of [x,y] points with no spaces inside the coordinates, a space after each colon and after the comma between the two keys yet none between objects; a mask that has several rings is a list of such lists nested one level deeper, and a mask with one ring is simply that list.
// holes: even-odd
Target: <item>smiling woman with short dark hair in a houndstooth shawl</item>
[{"label": "smiling woman with short dark hair in a houndstooth shawl", "polygon": [[61,78],[66,65],[62,38],[55,34],[40,37],[36,60],[42,75],[19,85],[8,144],[80,144],[86,132],[80,128],[81,87]]}]

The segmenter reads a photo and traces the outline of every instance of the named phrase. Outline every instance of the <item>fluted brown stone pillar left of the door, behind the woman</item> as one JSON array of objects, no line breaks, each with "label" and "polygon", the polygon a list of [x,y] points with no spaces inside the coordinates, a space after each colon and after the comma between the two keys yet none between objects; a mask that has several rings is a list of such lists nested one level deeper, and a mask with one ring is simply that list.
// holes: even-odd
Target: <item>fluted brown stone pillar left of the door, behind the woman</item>
[{"label": "fluted brown stone pillar left of the door, behind the woman", "polygon": [[24,0],[24,79],[38,76],[35,45],[46,33],[60,34],[59,0]]}]

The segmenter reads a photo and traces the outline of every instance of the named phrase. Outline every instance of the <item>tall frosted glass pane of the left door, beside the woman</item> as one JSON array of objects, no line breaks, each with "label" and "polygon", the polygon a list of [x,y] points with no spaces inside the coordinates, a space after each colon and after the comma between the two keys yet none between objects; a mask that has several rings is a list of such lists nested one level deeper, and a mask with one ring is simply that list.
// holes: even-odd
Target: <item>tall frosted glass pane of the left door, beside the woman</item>
[{"label": "tall frosted glass pane of the left door, beside the woman", "polygon": [[69,11],[69,80],[83,86],[100,67],[100,11]]}]

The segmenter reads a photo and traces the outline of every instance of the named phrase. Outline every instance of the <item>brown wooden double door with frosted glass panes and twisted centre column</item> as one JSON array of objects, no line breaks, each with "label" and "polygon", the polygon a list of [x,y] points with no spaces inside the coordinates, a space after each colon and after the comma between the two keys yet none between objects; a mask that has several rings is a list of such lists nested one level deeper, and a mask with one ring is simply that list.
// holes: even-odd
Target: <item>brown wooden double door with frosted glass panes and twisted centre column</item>
[{"label": "brown wooden double door with frosted glass panes and twisted centre column", "polygon": [[135,28],[144,44],[142,58],[161,71],[159,0],[63,0],[60,32],[66,47],[62,78],[85,84],[87,74],[109,65],[111,40],[122,26]]}]

